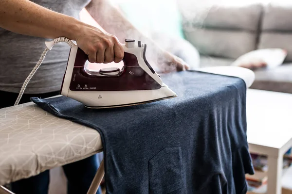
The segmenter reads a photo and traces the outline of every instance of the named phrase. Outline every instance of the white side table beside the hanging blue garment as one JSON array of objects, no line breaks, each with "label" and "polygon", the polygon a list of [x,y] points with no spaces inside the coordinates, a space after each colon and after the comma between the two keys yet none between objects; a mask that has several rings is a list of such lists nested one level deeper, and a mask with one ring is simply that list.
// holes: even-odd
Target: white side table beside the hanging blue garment
[{"label": "white side table beside the hanging blue garment", "polygon": [[281,194],[283,156],[292,147],[292,94],[247,90],[247,140],[251,153],[268,157],[267,194]]}]

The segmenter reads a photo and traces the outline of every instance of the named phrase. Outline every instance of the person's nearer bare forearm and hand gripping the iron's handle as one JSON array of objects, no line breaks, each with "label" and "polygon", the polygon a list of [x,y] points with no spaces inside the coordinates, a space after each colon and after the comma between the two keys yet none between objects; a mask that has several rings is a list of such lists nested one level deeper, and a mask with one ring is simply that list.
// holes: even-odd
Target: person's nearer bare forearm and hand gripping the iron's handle
[{"label": "person's nearer bare forearm and hand gripping the iron's handle", "polygon": [[43,38],[65,36],[76,41],[91,63],[118,63],[124,57],[115,36],[29,0],[0,0],[0,27]]}]

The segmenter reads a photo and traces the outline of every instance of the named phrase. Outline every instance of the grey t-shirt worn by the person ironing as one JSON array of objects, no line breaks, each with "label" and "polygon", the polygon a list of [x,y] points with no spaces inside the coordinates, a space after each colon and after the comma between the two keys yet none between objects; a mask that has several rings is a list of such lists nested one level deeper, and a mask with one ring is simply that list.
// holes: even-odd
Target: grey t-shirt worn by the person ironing
[{"label": "grey t-shirt worn by the person ironing", "polygon": [[[90,0],[34,0],[56,12],[79,19],[80,11]],[[26,77],[37,64],[45,41],[50,39],[13,33],[0,28],[0,90],[19,93]],[[70,47],[59,43],[47,53],[25,89],[27,94],[60,90]]]}]

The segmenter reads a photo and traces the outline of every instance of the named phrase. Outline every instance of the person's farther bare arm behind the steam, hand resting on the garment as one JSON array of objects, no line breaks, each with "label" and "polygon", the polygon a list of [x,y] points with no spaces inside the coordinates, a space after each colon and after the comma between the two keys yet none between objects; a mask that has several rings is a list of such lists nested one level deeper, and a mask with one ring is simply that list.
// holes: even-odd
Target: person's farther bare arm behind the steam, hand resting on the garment
[{"label": "person's farther bare arm behind the steam, hand resting on the garment", "polygon": [[182,59],[161,49],[152,39],[137,30],[109,0],[91,0],[86,10],[105,31],[115,34],[121,42],[134,38],[146,43],[150,60],[154,61],[161,71],[188,69]]}]

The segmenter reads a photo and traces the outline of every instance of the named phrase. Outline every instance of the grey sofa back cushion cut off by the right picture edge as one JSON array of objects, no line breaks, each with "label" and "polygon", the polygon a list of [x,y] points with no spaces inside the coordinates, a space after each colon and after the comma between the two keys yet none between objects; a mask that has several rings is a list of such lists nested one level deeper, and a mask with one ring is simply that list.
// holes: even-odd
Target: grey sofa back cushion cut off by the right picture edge
[{"label": "grey sofa back cushion cut off by the right picture edge", "polygon": [[273,2],[265,6],[258,49],[281,48],[288,51],[285,62],[292,62],[292,3]]}]

